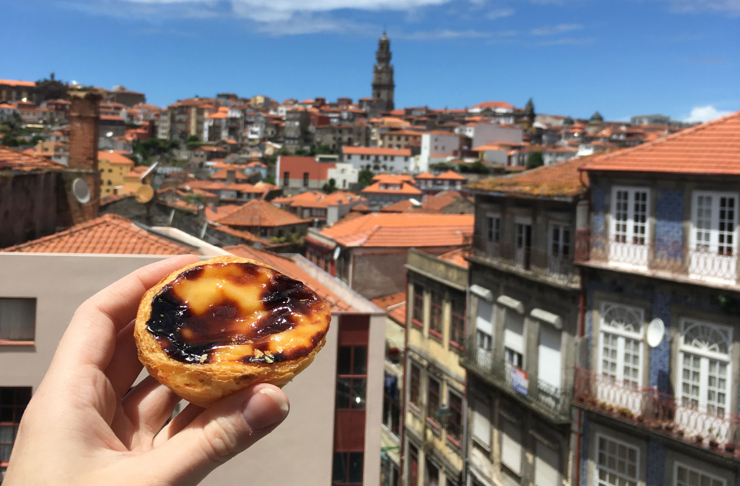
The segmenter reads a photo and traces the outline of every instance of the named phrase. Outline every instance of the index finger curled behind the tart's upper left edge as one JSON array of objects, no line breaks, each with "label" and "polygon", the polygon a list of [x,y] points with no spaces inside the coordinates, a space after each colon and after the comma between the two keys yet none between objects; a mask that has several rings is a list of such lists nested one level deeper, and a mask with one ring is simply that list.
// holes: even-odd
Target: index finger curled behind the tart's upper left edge
[{"label": "index finger curled behind the tart's upper left edge", "polygon": [[177,269],[200,260],[180,255],[141,267],[86,300],[59,342],[53,362],[92,364],[104,370],[122,328],[136,317],[144,293]]}]

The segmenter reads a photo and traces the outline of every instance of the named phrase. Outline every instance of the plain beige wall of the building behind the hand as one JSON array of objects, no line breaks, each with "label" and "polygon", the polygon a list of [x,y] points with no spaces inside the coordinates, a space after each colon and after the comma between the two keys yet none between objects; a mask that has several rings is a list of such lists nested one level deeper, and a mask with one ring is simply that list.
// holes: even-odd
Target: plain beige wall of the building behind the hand
[{"label": "plain beige wall of the building behind the hand", "polygon": [[[160,256],[0,253],[0,297],[36,297],[36,345],[0,346],[0,386],[33,386],[49,365],[75,308],[87,297]],[[335,323],[336,317],[332,323]],[[366,422],[365,484],[380,470],[383,406],[383,317],[372,317]],[[380,352],[377,350],[380,348]],[[215,470],[203,485],[331,484],[337,326],[324,350],[285,391],[291,412],[257,446]]]}]

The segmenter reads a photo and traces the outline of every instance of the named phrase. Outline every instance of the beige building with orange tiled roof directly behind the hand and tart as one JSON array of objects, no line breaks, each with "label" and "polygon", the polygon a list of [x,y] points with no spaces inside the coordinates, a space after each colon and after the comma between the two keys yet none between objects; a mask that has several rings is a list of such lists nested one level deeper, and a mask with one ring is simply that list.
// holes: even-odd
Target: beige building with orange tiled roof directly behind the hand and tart
[{"label": "beige building with orange tiled roof directly behind the hand and tart", "polygon": [[[0,482],[25,405],[75,308],[131,271],[182,253],[235,254],[266,263],[306,283],[332,310],[323,350],[283,388],[291,401],[286,421],[201,484],[238,484],[249,471],[256,483],[377,486],[383,312],[300,255],[244,245],[220,249],[176,229],[152,229],[115,215],[0,252]],[[145,376],[143,371],[139,379]]]}]

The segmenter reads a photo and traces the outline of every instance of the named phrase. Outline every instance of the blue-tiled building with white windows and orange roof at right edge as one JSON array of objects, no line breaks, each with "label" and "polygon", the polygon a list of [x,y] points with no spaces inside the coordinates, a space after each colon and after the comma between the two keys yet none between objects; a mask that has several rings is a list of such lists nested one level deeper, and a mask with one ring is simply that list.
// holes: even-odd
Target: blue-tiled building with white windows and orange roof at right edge
[{"label": "blue-tiled building with white windows and orange roof at right edge", "polygon": [[581,484],[740,480],[740,112],[593,158]]}]

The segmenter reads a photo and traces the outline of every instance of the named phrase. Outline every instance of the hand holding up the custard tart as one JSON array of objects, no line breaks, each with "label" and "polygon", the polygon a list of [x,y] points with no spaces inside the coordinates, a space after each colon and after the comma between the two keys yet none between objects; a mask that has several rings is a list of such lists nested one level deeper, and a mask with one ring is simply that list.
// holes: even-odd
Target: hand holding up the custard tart
[{"label": "hand holding up the custard tart", "polygon": [[207,410],[188,405],[169,423],[179,396],[152,377],[131,388],[142,368],[133,337],[141,297],[195,261],[152,263],[77,309],[21,419],[4,486],[195,485],[285,419],[288,399],[274,385]]}]

